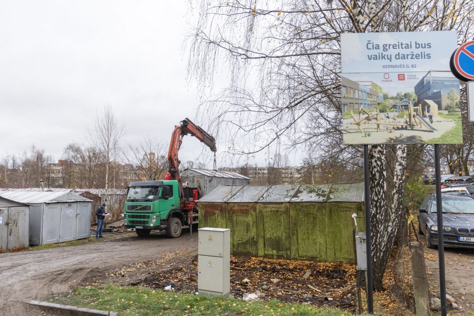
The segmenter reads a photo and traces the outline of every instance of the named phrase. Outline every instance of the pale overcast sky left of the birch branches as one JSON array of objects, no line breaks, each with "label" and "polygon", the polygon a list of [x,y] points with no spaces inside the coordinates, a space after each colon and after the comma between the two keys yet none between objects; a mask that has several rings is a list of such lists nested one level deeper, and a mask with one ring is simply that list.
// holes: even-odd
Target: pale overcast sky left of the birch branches
[{"label": "pale overcast sky left of the birch branches", "polygon": [[[200,103],[186,81],[192,21],[185,0],[0,2],[0,157],[34,144],[60,159],[68,144],[87,142],[106,104],[126,122],[125,142],[168,144]],[[180,158],[201,151],[189,140]]]}]

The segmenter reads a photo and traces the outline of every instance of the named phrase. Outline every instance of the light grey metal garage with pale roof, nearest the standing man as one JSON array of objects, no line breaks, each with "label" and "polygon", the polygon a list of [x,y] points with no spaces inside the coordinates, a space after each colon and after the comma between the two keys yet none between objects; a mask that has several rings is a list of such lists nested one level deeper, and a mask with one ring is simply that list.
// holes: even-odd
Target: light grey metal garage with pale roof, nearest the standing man
[{"label": "light grey metal garage with pale roof, nearest the standing man", "polygon": [[30,207],[29,243],[40,245],[90,236],[92,201],[71,192],[0,192],[0,196]]}]

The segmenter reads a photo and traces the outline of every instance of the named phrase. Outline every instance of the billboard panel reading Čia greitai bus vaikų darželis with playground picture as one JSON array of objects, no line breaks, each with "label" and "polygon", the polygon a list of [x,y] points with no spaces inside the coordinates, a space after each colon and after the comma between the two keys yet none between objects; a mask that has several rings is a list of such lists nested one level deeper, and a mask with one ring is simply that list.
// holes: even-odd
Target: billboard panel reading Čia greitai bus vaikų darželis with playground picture
[{"label": "billboard panel reading \u010cia greitai bus vaik\u0173 dar\u017eelis with playground picture", "polygon": [[462,143],[455,31],[341,34],[344,144]]}]

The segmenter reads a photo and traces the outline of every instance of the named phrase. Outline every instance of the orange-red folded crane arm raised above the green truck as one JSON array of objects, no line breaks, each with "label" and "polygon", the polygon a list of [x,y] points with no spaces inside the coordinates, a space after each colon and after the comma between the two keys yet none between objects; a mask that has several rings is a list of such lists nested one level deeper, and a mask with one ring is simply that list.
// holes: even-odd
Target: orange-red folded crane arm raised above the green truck
[{"label": "orange-red folded crane arm raised above the green truck", "polygon": [[180,185],[181,196],[183,195],[183,184],[180,179],[180,163],[178,159],[178,152],[180,151],[183,137],[191,135],[196,137],[201,143],[204,143],[211,151],[216,152],[216,140],[215,138],[200,128],[198,125],[193,123],[189,118],[185,118],[180,122],[180,125],[174,127],[174,131],[171,134],[171,141],[169,142],[168,149],[168,166],[169,173],[171,174],[172,180],[177,180]]}]

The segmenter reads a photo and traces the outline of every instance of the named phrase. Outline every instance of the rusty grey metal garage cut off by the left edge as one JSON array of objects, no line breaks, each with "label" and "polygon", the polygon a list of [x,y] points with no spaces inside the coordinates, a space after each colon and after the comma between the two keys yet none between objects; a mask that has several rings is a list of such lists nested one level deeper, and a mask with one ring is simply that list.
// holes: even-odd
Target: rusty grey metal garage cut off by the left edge
[{"label": "rusty grey metal garage cut off by the left edge", "polygon": [[0,197],[0,254],[28,248],[29,206]]}]

